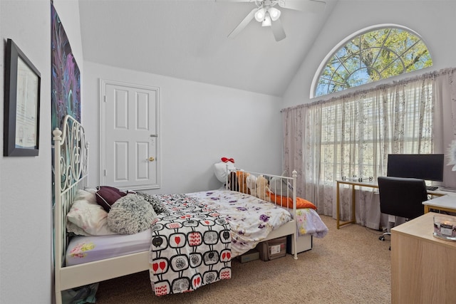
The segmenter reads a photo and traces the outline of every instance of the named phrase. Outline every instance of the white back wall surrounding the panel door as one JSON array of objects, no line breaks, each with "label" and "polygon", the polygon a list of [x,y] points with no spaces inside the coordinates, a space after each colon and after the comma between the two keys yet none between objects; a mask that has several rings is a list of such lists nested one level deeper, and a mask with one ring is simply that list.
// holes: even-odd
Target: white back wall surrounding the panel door
[{"label": "white back wall surrounding the panel door", "polygon": [[238,167],[281,173],[280,99],[216,85],[84,64],[83,122],[90,142],[90,186],[100,184],[100,78],[160,88],[161,188],[185,193],[221,186],[220,157]]}]

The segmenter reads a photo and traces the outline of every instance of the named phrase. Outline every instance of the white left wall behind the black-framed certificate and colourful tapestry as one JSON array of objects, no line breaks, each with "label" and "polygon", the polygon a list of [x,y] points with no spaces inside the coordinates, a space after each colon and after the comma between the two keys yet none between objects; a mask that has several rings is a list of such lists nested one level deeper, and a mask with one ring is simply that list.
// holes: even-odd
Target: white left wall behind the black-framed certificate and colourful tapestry
[{"label": "white left wall behind the black-framed certificate and colourful tapestry", "polygon": [[[54,5],[82,63],[78,2],[54,0]],[[0,157],[0,303],[51,303],[51,2],[1,0],[0,37],[1,134],[6,39],[13,39],[41,73],[39,155]]]}]

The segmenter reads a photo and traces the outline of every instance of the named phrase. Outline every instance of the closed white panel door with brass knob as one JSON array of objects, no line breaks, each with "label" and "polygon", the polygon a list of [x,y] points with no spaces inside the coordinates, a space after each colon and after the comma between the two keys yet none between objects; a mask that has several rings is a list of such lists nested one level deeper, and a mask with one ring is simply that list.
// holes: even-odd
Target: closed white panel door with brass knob
[{"label": "closed white panel door with brass knob", "polygon": [[101,184],[160,188],[158,88],[101,80]]}]

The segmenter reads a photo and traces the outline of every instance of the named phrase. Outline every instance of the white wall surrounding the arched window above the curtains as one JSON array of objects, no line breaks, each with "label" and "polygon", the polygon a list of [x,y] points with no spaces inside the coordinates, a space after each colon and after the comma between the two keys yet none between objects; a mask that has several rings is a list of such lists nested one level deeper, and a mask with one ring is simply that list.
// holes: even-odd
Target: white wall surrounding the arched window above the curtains
[{"label": "white wall surrounding the arched window above the curtains", "polygon": [[417,32],[425,41],[433,59],[432,67],[398,76],[395,80],[456,66],[456,39],[452,34],[456,27],[456,1],[339,0],[318,35],[314,48],[286,90],[283,108],[324,99],[309,98],[318,65],[346,37],[363,28],[384,23],[395,23]]}]

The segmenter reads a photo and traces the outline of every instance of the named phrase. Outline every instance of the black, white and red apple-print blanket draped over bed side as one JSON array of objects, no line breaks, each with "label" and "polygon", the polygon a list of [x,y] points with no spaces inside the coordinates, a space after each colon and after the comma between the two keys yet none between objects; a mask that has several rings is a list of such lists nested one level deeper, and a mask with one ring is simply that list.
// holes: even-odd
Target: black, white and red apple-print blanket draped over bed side
[{"label": "black, white and red apple-print blanket draped over bed side", "polygon": [[150,281],[155,295],[185,293],[231,278],[229,224],[206,201],[153,195],[163,207],[152,226]]}]

